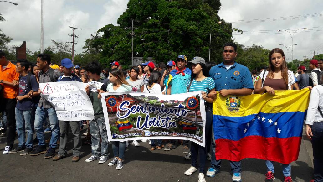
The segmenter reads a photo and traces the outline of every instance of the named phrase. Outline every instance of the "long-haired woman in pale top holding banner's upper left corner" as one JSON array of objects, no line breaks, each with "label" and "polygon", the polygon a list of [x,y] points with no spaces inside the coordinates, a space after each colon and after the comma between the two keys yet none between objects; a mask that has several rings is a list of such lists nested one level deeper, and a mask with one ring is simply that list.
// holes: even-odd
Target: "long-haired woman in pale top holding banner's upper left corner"
[{"label": "long-haired woman in pale top holding banner's upper left corner", "polygon": [[[109,73],[109,78],[112,83],[110,83],[107,87],[107,92],[125,92],[125,91],[132,91],[132,87],[129,83],[125,80],[122,75],[121,70],[115,68],[112,69]],[[98,90],[99,95],[98,98],[100,99],[102,96],[100,93],[105,91]],[[116,169],[122,169],[122,158],[124,157],[124,153],[126,152],[126,142],[112,142],[112,150],[114,159],[109,162],[108,166],[113,166],[117,164]]]}]

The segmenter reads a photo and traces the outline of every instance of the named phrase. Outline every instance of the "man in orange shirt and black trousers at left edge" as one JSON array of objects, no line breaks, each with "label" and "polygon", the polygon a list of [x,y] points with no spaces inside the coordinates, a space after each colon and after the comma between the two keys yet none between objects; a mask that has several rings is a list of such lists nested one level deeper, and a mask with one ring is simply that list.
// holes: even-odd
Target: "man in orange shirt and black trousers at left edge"
[{"label": "man in orange shirt and black trousers at left edge", "polygon": [[15,107],[17,104],[16,96],[18,95],[19,73],[16,72],[16,66],[8,61],[5,52],[0,50],[0,84],[1,84],[1,111],[5,111],[7,115],[7,145],[3,154],[9,154],[15,141],[16,119]]}]

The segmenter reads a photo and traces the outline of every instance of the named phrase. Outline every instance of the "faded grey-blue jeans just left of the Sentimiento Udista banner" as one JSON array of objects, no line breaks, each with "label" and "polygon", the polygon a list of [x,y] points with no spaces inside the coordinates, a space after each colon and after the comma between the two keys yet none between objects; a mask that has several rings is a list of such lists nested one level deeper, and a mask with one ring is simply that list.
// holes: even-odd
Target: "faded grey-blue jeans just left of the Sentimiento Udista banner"
[{"label": "faded grey-blue jeans just left of the Sentimiento Udista banner", "polygon": [[[92,142],[92,155],[96,157],[109,157],[109,141],[104,117],[94,118],[94,120],[89,121],[89,127]],[[102,139],[101,143],[100,138]]]}]

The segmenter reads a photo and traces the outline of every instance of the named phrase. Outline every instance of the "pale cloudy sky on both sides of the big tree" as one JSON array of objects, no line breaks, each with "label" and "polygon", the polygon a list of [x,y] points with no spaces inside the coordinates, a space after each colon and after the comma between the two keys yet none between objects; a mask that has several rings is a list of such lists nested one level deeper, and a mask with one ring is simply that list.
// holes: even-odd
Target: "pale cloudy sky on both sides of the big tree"
[{"label": "pale cloudy sky on both sides of the big tree", "polygon": [[[0,13],[6,19],[0,23],[3,32],[12,37],[10,45],[21,45],[36,51],[40,47],[40,0],[13,0],[19,5],[0,2]],[[45,0],[44,47],[51,46],[51,39],[71,41],[71,27],[100,28],[107,24],[117,25],[118,17],[126,10],[128,0]],[[293,59],[311,58],[323,53],[323,2],[316,0],[221,0],[219,16],[233,27],[244,31],[235,34],[235,42],[245,46],[262,45],[264,48],[282,48],[292,45]],[[76,30],[76,53],[82,52],[84,40],[96,29]],[[312,51],[311,51],[312,50]],[[289,60],[291,60],[291,48]]]}]

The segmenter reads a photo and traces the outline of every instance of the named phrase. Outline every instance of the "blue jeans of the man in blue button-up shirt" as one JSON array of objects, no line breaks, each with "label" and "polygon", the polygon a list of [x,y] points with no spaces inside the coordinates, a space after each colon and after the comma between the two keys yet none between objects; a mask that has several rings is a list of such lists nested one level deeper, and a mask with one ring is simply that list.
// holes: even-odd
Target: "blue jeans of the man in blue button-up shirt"
[{"label": "blue jeans of the man in blue button-up shirt", "polygon": [[[221,167],[221,159],[216,160],[215,157],[215,139],[214,139],[214,132],[212,129],[212,142],[211,142],[211,151],[212,151],[212,159],[211,159],[211,166],[213,169],[218,171]],[[230,169],[233,173],[241,173],[241,161],[230,161]]]}]

